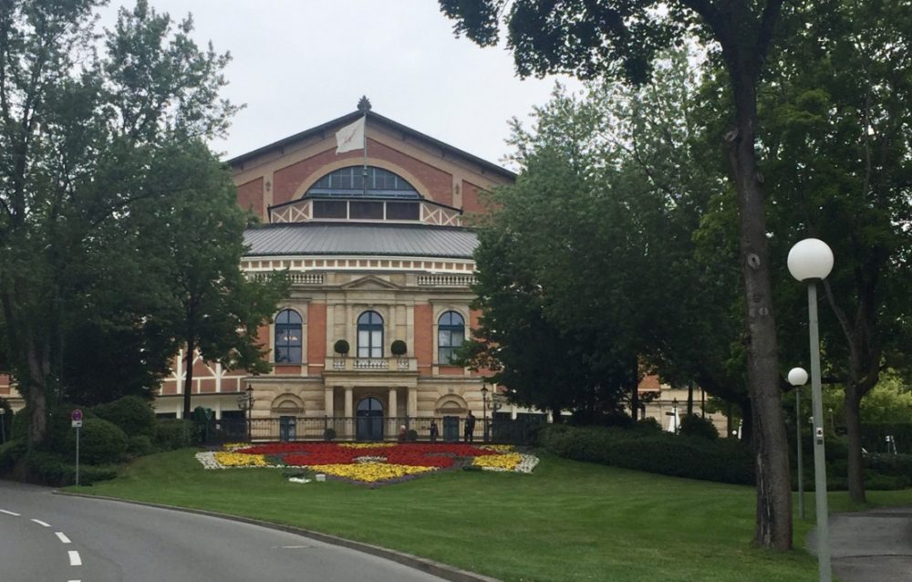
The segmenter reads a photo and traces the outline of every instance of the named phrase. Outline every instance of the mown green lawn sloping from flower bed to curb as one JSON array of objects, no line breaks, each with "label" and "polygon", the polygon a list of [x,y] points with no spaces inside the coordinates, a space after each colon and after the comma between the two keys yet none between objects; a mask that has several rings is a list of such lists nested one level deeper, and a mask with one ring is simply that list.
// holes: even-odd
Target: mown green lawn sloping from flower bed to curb
[{"label": "mown green lawn sloping from flower bed to curb", "polygon": [[[288,483],[275,469],[204,471],[190,449],[144,457],[70,491],[244,515],[389,547],[510,581],[812,582],[792,552],[751,547],[751,487],[675,479],[542,455],[531,475],[444,472],[378,488]],[[871,492],[912,504],[912,492]],[[845,511],[845,494],[831,509]],[[797,504],[795,504],[797,514]],[[857,509],[857,508],[856,508]]]}]

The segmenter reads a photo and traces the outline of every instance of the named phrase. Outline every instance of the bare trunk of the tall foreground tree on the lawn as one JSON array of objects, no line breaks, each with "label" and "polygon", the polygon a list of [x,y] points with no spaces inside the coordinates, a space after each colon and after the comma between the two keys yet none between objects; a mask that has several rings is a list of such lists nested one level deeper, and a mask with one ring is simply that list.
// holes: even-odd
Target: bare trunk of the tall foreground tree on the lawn
[{"label": "bare trunk of the tall foreground tree on the lawn", "polygon": [[[792,548],[792,480],[779,393],[779,361],[772,313],[766,218],[756,152],[756,92],[747,71],[731,71],[736,127],[729,142],[741,217],[741,276],[757,473],[754,543]],[[746,416],[746,415],[745,415]]]}]

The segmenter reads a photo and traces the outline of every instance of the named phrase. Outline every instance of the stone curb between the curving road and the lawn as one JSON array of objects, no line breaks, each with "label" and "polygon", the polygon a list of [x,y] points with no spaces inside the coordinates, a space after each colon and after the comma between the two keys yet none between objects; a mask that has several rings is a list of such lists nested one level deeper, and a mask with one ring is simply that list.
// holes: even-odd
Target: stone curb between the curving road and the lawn
[{"label": "stone curb between the curving road and the lawn", "polygon": [[205,509],[193,509],[190,507],[153,504],[145,501],[133,501],[130,499],[120,499],[119,497],[108,497],[106,495],[78,494],[68,491],[60,491],[58,489],[55,489],[53,493],[56,495],[68,495],[70,497],[83,497],[85,499],[116,501],[122,504],[145,505],[146,507],[156,507],[158,509],[180,511],[185,514],[208,515],[210,517],[218,517],[220,519],[227,519],[229,521],[239,522],[242,524],[259,525],[260,527],[274,529],[289,534],[303,535],[305,537],[309,537],[311,539],[315,539],[319,542],[324,542],[332,546],[347,547],[348,549],[357,550],[358,552],[363,552],[372,556],[386,558],[390,561],[402,564],[403,566],[409,566],[415,570],[426,572],[432,576],[440,577],[444,580],[450,580],[451,582],[500,582],[500,580],[497,578],[482,576],[481,574],[475,574],[474,572],[469,572],[468,570],[461,570],[453,566],[447,566],[446,564],[425,559],[423,557],[412,556],[411,554],[406,554],[405,552],[399,552],[397,550],[391,550],[381,546],[373,546],[371,544],[364,544],[362,542],[345,539],[344,537],[337,537],[336,535],[322,534],[320,532],[315,532],[303,527],[295,527],[294,525],[274,524],[272,522],[264,522],[258,519],[243,517],[240,515],[221,514],[219,512],[207,511]]}]

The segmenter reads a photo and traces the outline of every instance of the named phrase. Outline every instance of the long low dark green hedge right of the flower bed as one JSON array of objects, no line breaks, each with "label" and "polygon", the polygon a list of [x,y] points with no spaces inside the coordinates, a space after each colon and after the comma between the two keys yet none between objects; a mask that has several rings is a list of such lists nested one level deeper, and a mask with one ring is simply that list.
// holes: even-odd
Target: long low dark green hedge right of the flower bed
[{"label": "long low dark green hedge right of the flower bed", "polygon": [[575,461],[719,483],[754,482],[753,454],[747,445],[734,439],[709,441],[664,432],[643,435],[621,429],[552,425],[542,431],[541,445]]}]

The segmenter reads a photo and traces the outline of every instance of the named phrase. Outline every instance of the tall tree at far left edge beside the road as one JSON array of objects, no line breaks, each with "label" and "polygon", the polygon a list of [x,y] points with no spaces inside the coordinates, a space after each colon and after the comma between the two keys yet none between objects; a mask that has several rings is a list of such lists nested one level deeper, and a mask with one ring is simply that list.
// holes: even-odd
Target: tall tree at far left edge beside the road
[{"label": "tall tree at far left edge beside the road", "polygon": [[95,0],[5,0],[0,9],[0,305],[11,368],[31,411],[28,442],[61,396],[64,338],[84,296],[84,259],[150,182],[161,140],[223,132],[226,55],[187,19],[145,0],[121,10],[98,56]]}]

